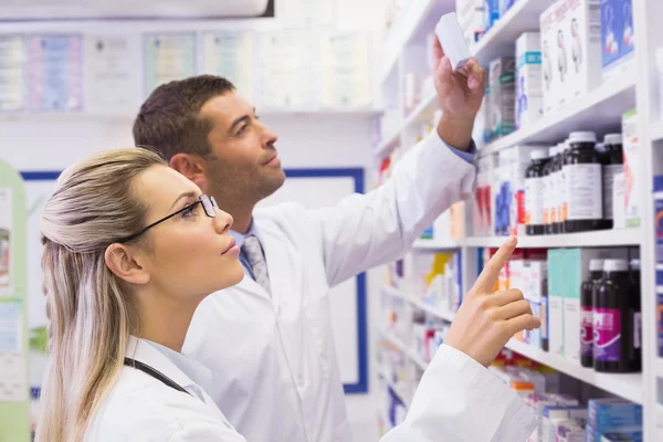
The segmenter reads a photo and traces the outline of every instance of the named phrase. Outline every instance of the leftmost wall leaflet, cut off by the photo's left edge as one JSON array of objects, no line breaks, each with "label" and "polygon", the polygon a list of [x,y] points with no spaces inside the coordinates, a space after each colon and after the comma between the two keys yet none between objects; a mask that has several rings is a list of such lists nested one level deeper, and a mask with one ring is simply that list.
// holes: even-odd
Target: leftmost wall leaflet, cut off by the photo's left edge
[{"label": "leftmost wall leaflet, cut off by the photo's left edge", "polygon": [[27,59],[21,35],[0,35],[0,112],[24,108]]}]

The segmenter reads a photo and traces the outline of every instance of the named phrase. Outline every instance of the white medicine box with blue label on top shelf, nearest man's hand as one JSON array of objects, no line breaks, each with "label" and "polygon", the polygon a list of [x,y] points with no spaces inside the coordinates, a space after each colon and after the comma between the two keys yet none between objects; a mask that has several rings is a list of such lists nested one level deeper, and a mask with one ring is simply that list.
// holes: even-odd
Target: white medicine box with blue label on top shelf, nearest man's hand
[{"label": "white medicine box with blue label on top shelf, nearest man's hand", "polygon": [[541,38],[525,32],[516,40],[516,129],[544,114]]}]

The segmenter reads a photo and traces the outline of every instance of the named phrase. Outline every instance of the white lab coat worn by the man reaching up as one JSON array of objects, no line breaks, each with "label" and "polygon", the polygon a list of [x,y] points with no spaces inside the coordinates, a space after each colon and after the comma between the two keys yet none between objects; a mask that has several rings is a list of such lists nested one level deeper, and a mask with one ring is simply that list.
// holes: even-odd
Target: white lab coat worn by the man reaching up
[{"label": "white lab coat worn by the man reaching up", "polygon": [[367,194],[322,210],[285,203],[254,211],[271,295],[244,277],[208,296],[182,349],[211,370],[209,394],[246,440],[351,440],[332,287],[402,256],[440,213],[470,194],[474,172],[433,130]]}]

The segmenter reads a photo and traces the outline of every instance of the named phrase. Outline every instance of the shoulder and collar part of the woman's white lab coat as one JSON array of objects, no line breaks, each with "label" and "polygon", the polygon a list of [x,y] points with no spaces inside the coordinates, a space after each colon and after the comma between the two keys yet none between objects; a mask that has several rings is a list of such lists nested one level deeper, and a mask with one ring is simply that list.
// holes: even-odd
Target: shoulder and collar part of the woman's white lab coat
[{"label": "shoulder and collar part of the woman's white lab coat", "polygon": [[131,367],[123,367],[86,432],[90,442],[244,442],[203,386],[210,371],[158,344],[130,338],[127,357],[146,364],[190,394]]}]

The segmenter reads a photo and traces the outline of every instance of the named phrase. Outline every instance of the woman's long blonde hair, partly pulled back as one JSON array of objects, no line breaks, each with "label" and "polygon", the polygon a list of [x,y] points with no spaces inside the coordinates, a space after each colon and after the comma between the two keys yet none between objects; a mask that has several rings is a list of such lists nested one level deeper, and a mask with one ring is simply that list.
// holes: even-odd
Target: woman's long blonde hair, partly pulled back
[{"label": "woman's long blonde hair, partly pulled back", "polygon": [[41,219],[50,358],[38,442],[80,441],[116,381],[139,318],[105,250],[145,225],[135,180],[162,159],[146,149],[99,152],[70,167]]}]

